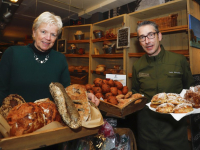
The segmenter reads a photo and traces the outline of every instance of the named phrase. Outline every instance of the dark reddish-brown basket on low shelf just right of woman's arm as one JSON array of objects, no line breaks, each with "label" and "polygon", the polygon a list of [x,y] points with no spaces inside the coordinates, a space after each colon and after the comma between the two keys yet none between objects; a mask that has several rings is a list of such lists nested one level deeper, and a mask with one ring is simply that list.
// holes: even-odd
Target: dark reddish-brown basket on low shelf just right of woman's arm
[{"label": "dark reddish-brown basket on low shelf just right of woman's arm", "polygon": [[88,83],[88,73],[70,73],[71,84],[82,84]]}]

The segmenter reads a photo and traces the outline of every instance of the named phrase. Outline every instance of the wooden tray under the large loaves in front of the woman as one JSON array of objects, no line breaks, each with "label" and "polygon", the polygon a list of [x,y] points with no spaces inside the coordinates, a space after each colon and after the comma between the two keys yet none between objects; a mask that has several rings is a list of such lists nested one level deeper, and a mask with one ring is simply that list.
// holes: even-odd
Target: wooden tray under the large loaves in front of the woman
[{"label": "wooden tray under the large loaves in front of the woman", "polygon": [[24,134],[0,139],[2,150],[36,149],[65,141],[70,141],[98,133],[99,128],[84,128],[72,130],[69,127],[60,127],[42,132]]}]

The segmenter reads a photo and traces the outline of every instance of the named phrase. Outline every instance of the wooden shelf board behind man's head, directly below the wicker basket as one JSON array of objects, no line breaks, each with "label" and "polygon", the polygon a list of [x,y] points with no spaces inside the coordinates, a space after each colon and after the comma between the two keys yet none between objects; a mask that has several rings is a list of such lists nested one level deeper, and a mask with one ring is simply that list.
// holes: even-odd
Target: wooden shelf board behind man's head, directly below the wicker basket
[{"label": "wooden shelf board behind man's head, directly below the wicker basket", "polygon": [[[160,29],[161,33],[170,33],[170,32],[178,32],[178,31],[188,31],[188,25],[182,25],[182,26],[174,26],[170,28],[164,28]],[[137,33],[131,33],[130,34],[131,38],[137,37]]]}]

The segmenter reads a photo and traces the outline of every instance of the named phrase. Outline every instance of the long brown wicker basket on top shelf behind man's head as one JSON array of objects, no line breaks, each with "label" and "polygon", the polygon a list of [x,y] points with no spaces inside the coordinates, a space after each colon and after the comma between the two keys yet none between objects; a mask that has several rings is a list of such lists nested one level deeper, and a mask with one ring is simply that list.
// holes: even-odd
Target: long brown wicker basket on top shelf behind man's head
[{"label": "long brown wicker basket on top shelf behind man's head", "polygon": [[[171,14],[167,17],[150,19],[149,21],[155,22],[158,25],[159,29],[163,29],[177,26],[177,17],[178,14]],[[138,21],[137,24],[140,24],[141,22],[143,21]]]}]

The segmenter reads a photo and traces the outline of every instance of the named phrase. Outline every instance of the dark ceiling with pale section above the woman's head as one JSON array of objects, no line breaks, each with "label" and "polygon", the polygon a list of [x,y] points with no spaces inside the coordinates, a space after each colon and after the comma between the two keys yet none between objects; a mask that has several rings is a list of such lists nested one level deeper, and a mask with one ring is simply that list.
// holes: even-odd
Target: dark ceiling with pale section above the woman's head
[{"label": "dark ceiling with pale section above the woman's head", "polygon": [[15,9],[10,21],[0,30],[1,41],[23,40],[31,36],[34,19],[44,11],[59,15],[65,24],[70,19],[77,20],[78,17],[87,19],[96,12],[103,13],[136,0],[19,0],[19,6],[10,6],[4,1],[8,0],[0,0],[0,15],[8,11],[5,6]]}]

